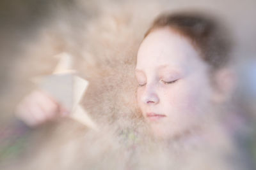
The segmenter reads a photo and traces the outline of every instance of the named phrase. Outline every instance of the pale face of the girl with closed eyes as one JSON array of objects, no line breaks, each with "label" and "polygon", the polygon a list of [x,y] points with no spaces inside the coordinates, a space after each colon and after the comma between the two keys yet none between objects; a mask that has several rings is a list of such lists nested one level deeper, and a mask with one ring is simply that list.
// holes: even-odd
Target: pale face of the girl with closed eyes
[{"label": "pale face of the girl with closed eyes", "polygon": [[208,67],[191,41],[170,28],[144,39],[136,65],[137,100],[156,136],[179,136],[200,124],[212,96]]}]

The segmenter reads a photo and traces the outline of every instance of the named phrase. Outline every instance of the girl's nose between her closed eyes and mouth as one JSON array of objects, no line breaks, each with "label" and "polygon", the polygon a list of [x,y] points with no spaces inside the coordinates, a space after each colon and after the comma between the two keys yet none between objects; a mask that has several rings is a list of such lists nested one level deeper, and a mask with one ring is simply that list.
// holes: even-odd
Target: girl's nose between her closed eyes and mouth
[{"label": "girl's nose between her closed eyes and mouth", "polygon": [[159,103],[159,97],[154,87],[146,87],[142,96],[142,101],[145,104]]}]

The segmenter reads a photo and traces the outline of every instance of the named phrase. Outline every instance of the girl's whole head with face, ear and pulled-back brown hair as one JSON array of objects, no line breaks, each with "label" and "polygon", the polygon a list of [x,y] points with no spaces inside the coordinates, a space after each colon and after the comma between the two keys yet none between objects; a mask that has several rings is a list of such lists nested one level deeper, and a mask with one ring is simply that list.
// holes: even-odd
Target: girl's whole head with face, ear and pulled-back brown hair
[{"label": "girl's whole head with face, ear and pulled-back brown hair", "polygon": [[140,45],[138,104],[155,136],[197,131],[233,89],[230,40],[218,23],[202,16],[161,15]]}]

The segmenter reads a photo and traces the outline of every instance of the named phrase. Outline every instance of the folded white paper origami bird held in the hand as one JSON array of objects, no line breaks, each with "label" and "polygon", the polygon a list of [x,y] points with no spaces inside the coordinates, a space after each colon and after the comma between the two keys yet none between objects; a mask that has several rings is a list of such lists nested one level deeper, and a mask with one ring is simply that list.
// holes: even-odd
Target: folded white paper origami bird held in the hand
[{"label": "folded white paper origami bird held in the hand", "polygon": [[33,81],[70,111],[68,117],[97,130],[92,118],[79,104],[88,87],[88,81],[76,76],[76,71],[72,69],[72,57],[68,53],[60,53],[56,57],[60,61],[53,73],[33,78]]}]

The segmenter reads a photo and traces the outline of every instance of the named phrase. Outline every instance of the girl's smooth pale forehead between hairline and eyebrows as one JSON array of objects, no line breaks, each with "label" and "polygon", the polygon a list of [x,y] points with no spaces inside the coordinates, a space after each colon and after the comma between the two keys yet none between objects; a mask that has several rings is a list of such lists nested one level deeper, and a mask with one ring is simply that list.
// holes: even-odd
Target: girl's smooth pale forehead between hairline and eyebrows
[{"label": "girl's smooth pale forehead between hairline and eyebrows", "polygon": [[138,69],[152,69],[161,65],[188,68],[200,60],[188,38],[166,27],[150,32],[141,43]]}]

